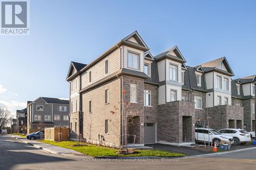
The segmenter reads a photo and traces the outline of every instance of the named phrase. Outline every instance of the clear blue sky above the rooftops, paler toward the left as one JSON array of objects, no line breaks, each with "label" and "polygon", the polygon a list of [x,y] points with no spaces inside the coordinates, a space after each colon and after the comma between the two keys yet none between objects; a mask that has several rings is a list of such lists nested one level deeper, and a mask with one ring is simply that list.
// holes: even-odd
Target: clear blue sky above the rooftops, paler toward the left
[{"label": "clear blue sky above the rooftops, paler toward the left", "polygon": [[89,63],[137,30],[153,55],[178,45],[189,66],[225,56],[256,74],[255,1],[31,1],[30,36],[0,36],[0,106],[69,98],[71,61]]}]

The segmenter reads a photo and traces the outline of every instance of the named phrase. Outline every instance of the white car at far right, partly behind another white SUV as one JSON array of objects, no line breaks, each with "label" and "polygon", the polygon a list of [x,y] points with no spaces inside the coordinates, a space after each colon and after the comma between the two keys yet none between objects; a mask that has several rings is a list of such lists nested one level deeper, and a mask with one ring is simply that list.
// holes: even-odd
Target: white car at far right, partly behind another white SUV
[{"label": "white car at far right, partly behind another white SUV", "polygon": [[250,134],[243,129],[221,129],[219,132],[223,135],[232,136],[234,145],[251,141]]}]

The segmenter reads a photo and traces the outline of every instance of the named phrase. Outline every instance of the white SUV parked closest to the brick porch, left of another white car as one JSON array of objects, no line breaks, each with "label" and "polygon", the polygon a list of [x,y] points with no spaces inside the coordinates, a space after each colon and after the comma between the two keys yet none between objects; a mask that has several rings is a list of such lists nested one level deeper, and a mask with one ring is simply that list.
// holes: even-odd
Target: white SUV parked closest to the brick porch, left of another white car
[{"label": "white SUV parked closest to the brick porch, left of another white car", "polygon": [[[210,133],[208,133],[209,131]],[[207,143],[210,142],[211,144],[214,144],[216,142],[217,145],[220,144],[221,140],[233,142],[233,137],[223,135],[215,129],[209,129],[209,131],[207,128],[195,129],[196,141],[206,141]]]}]

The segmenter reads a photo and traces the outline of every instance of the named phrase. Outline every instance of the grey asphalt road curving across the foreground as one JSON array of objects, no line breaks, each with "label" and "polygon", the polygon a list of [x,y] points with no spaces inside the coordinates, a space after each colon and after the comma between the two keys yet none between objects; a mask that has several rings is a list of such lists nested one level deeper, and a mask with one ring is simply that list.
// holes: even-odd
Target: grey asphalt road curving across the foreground
[{"label": "grey asphalt road curving across the foreground", "polygon": [[[0,135],[0,169],[255,169],[256,150],[210,157],[157,160],[92,160],[48,154]],[[235,156],[234,156],[235,155]]]}]

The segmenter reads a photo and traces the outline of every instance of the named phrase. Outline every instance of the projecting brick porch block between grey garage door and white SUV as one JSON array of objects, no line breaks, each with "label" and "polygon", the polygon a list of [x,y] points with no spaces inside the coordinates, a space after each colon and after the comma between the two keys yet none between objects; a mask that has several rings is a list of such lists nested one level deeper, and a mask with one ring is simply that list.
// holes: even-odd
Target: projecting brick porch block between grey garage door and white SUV
[{"label": "projecting brick porch block between grey garage door and white SUV", "polygon": [[[181,101],[158,106],[158,141],[183,142],[182,116],[191,117],[191,128],[188,128],[186,135],[188,135],[188,139],[191,142],[194,142],[195,126],[193,124],[195,124],[195,104]],[[188,119],[186,120],[185,122],[188,123]]]}]

